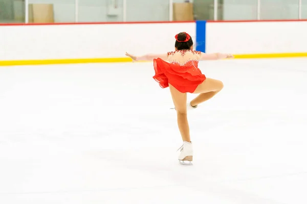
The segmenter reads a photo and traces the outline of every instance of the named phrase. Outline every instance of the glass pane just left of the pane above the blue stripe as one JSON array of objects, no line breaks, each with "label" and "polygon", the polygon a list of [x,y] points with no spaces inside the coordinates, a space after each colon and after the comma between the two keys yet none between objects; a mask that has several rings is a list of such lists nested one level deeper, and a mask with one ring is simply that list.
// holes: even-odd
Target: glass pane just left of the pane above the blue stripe
[{"label": "glass pane just left of the pane above the blue stripe", "polygon": [[127,21],[168,21],[169,1],[128,0]]}]

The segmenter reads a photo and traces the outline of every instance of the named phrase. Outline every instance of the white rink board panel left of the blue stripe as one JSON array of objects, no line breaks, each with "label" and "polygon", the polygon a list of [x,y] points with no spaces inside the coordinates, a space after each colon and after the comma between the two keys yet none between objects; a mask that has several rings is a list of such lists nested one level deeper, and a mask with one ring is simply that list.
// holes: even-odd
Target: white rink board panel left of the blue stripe
[{"label": "white rink board panel left of the blue stripe", "polygon": [[174,36],[195,22],[0,26],[0,60],[125,57],[174,49]]}]

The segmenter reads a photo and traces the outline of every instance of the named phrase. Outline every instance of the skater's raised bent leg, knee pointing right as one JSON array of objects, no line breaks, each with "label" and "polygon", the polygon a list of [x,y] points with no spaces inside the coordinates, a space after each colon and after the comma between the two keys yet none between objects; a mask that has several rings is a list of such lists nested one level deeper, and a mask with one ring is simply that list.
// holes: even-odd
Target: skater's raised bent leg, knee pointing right
[{"label": "skater's raised bent leg, knee pointing right", "polygon": [[223,89],[224,85],[221,81],[207,78],[202,84],[200,84],[194,93],[200,93],[197,97],[191,100],[191,106],[195,107],[204,101],[212,98],[218,92]]}]

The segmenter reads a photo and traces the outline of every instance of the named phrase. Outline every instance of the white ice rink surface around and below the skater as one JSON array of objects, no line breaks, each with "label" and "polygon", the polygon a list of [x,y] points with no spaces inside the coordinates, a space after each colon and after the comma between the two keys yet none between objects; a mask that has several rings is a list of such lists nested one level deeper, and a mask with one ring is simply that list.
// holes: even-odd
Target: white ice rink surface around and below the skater
[{"label": "white ice rink surface around and below the skater", "polygon": [[200,67],[193,166],[152,63],[0,67],[0,203],[307,203],[307,59]]}]

